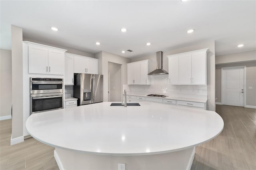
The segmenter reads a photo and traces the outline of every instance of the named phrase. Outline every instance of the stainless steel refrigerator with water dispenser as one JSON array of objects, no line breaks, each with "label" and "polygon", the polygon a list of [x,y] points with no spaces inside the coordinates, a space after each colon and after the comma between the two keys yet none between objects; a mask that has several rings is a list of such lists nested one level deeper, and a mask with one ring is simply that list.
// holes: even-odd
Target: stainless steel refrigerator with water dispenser
[{"label": "stainless steel refrigerator with water dispenser", "polygon": [[78,106],[103,102],[103,75],[75,74],[74,97],[78,98]]}]

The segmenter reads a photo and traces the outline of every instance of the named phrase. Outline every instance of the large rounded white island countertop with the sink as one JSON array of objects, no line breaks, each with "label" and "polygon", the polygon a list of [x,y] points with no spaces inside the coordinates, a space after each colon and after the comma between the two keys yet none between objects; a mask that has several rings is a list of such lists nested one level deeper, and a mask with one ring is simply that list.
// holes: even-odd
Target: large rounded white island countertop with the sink
[{"label": "large rounded white island countertop with the sink", "polygon": [[216,137],[222,118],[213,111],[139,102],[111,102],[32,114],[31,136],[50,146],[101,155],[150,155],[183,150]]}]

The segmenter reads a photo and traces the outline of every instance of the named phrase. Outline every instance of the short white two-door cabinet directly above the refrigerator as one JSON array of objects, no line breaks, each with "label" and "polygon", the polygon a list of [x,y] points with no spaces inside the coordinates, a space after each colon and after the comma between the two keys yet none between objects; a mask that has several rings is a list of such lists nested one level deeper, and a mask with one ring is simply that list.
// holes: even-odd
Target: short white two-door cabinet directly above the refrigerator
[{"label": "short white two-door cabinet directly above the refrigerator", "polygon": [[98,74],[98,59],[74,55],[74,73]]}]

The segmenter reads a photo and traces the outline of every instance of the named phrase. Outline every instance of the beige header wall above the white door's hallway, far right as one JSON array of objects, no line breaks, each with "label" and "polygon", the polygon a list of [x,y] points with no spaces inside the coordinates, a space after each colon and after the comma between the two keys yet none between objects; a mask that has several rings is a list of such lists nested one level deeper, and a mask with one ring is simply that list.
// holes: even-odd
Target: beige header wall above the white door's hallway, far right
[{"label": "beige header wall above the white door's hallway, far right", "polygon": [[216,56],[216,64],[256,61],[256,50]]}]

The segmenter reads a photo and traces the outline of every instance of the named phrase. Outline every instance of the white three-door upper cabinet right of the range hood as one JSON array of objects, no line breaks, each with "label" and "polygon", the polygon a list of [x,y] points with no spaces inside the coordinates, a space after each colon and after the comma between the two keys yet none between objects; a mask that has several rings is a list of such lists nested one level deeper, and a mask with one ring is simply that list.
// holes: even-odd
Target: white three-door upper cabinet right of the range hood
[{"label": "white three-door upper cabinet right of the range hood", "polygon": [[168,55],[170,85],[207,85],[206,49]]}]

